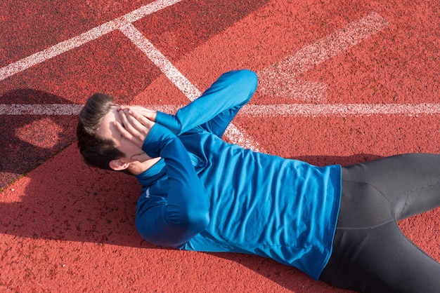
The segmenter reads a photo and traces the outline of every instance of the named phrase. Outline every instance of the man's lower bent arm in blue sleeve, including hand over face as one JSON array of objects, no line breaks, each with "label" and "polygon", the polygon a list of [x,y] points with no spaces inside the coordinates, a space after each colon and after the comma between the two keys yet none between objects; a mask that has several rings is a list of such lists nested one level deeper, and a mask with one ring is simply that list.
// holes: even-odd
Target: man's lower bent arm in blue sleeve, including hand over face
[{"label": "man's lower bent arm in blue sleeve, including hand over face", "polygon": [[205,229],[209,222],[205,189],[174,133],[135,109],[123,109],[119,116],[121,122],[115,123],[117,130],[143,151],[131,159],[162,157],[165,162],[162,170],[167,173],[166,177],[157,177],[148,186],[148,194],[139,198],[136,227],[152,243],[178,247]]}]

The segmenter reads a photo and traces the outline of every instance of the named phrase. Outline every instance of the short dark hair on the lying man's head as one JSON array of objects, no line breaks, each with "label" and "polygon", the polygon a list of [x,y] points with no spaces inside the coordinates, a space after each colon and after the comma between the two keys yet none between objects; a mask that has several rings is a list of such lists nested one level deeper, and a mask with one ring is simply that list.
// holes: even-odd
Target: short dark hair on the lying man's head
[{"label": "short dark hair on the lying man's head", "polygon": [[110,161],[124,157],[124,153],[115,147],[111,139],[103,139],[96,135],[104,116],[112,106],[115,106],[115,102],[111,95],[92,95],[79,112],[77,125],[78,147],[84,161],[88,165],[105,170],[112,170]]}]

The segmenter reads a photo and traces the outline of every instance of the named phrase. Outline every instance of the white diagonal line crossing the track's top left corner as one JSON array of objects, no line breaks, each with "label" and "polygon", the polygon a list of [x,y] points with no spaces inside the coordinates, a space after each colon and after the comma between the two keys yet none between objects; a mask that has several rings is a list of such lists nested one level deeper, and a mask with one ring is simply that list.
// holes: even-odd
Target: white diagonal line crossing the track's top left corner
[{"label": "white diagonal line crossing the track's top left corner", "polygon": [[84,34],[80,34],[79,36],[75,36],[72,39],[68,39],[67,41],[62,41],[61,43],[57,43],[54,46],[41,50],[40,52],[34,53],[28,57],[23,58],[22,60],[18,60],[17,62],[13,62],[8,64],[6,67],[2,67],[0,69],[0,81],[8,78],[9,76],[13,76],[14,74],[18,74],[21,71],[24,71],[34,65],[37,65],[41,62],[49,60],[53,57],[56,57],[62,53],[65,53],[69,50],[77,48],[79,46],[88,43],[89,41],[93,41],[94,39],[98,39],[100,36],[104,34],[108,34],[109,32],[118,29],[127,23],[134,22],[139,20],[146,15],[151,13],[155,13],[162,8],[166,8],[168,6],[172,6],[180,2],[181,0],[157,0],[141,8],[138,8],[126,15],[122,15],[115,20],[110,20],[109,22],[105,22],[103,25],[99,25],[98,27],[94,27],[90,29],[88,32],[84,32]]}]

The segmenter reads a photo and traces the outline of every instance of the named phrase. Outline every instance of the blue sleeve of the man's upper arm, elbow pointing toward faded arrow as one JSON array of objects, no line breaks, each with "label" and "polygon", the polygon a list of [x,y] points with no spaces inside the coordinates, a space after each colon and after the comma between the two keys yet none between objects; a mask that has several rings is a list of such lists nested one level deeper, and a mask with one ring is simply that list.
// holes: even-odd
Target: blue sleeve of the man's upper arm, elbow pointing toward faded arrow
[{"label": "blue sleeve of the man's upper arm, elbow pointing toward faded arrow", "polygon": [[156,122],[180,135],[196,126],[221,137],[238,110],[249,102],[257,88],[257,74],[250,70],[222,74],[197,100],[176,115],[157,112]]}]

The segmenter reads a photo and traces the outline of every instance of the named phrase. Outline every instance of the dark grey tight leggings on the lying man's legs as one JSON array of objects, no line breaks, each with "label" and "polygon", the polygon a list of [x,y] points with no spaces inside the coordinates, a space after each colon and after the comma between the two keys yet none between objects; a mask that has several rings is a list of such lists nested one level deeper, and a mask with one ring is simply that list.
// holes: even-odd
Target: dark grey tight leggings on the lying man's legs
[{"label": "dark grey tight leggings on the lying man's legs", "polygon": [[396,223],[438,206],[440,155],[406,154],[342,168],[333,252],[320,279],[360,292],[440,292],[440,264]]}]

